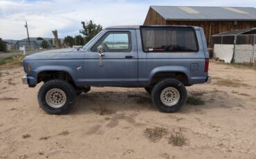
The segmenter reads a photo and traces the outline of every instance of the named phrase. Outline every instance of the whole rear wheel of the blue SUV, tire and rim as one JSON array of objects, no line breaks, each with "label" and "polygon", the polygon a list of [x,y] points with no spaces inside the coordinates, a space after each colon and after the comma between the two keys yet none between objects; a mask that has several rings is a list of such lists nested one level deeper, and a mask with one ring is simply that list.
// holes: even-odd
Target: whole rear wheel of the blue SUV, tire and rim
[{"label": "whole rear wheel of the blue SUV, tire and rim", "polygon": [[164,113],[173,113],[181,109],[188,95],[182,82],[177,79],[164,79],[152,90],[152,102]]}]

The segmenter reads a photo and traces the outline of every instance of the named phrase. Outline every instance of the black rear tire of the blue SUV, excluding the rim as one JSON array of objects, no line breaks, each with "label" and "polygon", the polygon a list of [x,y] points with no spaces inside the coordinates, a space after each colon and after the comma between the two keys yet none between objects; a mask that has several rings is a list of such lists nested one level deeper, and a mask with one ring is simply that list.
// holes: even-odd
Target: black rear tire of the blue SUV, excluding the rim
[{"label": "black rear tire of the blue SUV, excluding the rim", "polygon": [[[161,102],[161,92],[167,87],[174,87],[179,91],[179,101],[173,106],[167,106]],[[187,102],[187,99],[187,90],[184,84],[177,79],[163,79],[161,82],[155,84],[152,89],[152,102],[158,108],[158,110],[163,113],[174,113],[178,111]]]}]

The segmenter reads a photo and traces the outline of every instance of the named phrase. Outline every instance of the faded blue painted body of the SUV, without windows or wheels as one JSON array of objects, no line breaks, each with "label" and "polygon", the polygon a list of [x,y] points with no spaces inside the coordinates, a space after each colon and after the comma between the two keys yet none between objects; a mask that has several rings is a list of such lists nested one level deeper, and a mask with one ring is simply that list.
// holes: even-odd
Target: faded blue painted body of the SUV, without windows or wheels
[{"label": "faded blue painted body of the SUV, without windows or wheels", "polygon": [[[37,75],[42,71],[65,71],[76,86],[148,86],[154,75],[161,72],[183,73],[190,85],[201,84],[208,79],[204,65],[209,55],[203,29],[194,29],[199,44],[197,53],[144,53],[139,27],[113,27],[100,32],[82,50],[48,50],[29,55],[24,59],[24,70],[30,85],[37,84]],[[129,53],[104,53],[100,66],[98,53],[91,52],[91,47],[109,30],[130,32],[132,49]]]}]

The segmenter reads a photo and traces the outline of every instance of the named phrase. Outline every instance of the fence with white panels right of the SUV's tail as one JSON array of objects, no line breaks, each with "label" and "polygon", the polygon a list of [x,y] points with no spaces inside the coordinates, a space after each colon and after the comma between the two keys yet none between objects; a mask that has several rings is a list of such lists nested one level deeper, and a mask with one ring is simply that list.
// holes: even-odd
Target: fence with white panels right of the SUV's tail
[{"label": "fence with white panels right of the SUV's tail", "polygon": [[211,41],[214,57],[228,63],[254,63],[255,44],[256,35],[220,35],[213,36]]}]

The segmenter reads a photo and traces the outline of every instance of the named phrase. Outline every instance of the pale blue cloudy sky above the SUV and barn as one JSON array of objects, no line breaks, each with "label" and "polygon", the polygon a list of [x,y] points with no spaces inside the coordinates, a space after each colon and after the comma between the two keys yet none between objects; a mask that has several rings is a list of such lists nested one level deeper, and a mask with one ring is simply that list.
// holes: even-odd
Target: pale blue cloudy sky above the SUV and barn
[{"label": "pale blue cloudy sky above the SUV and barn", "polygon": [[24,39],[79,35],[81,21],[93,20],[104,27],[142,25],[149,6],[239,6],[255,7],[256,0],[0,0],[0,37]]}]

